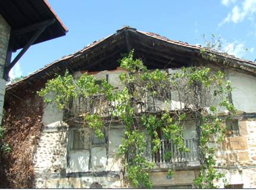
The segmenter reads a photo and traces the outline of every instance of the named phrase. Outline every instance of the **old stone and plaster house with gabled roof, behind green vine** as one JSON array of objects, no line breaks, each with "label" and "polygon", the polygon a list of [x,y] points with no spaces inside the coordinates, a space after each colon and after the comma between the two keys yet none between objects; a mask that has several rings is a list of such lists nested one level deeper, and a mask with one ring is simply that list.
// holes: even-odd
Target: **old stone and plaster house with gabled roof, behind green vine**
[{"label": "old stone and plaster house with gabled roof, behind green vine", "polygon": [[[25,141],[36,139],[27,147],[31,149],[34,187],[89,188],[92,184],[101,185],[103,188],[129,186],[122,173],[121,159],[116,159],[116,152],[124,137],[124,126],[119,123],[112,124],[109,131],[105,132],[104,140],[97,139],[96,136],[84,136],[80,139],[79,122],[66,122],[65,112],[59,111],[55,105],[43,104],[36,91],[48,79],[53,78],[55,73],[63,73],[65,69],[75,78],[88,72],[97,80],[107,79],[115,88],[120,88],[118,76],[125,70],[120,69],[116,60],[131,49],[135,50],[137,57],[143,59],[148,69],[166,69],[172,74],[183,66],[206,66],[225,73],[225,79],[230,80],[235,88],[230,95],[230,101],[238,109],[238,115],[227,123],[230,133],[222,143],[221,150],[217,152],[216,167],[225,173],[229,184],[227,187],[255,188],[255,63],[217,52],[214,53],[214,59],[207,59],[200,54],[201,46],[169,40],[159,34],[138,31],[131,27],[121,28],[115,34],[94,41],[84,49],[64,56],[7,86],[5,110],[9,115],[5,117],[5,125],[10,128],[15,125],[15,130],[30,130]],[[177,101],[173,95],[173,102]],[[96,102],[93,106],[97,105],[103,104]],[[177,108],[179,104],[173,105],[170,110]],[[162,102],[154,102],[153,106],[161,109]],[[78,100],[72,110],[80,112],[87,108],[91,108],[91,105],[82,104]],[[33,130],[35,125],[40,125],[40,130],[36,130],[36,133]],[[195,121],[189,120],[185,126],[184,138],[191,152],[181,153],[176,147],[172,147],[173,156],[166,161],[164,139],[158,159],[151,153],[151,147],[148,147],[146,156],[150,162],[156,163],[156,167],[150,172],[154,188],[194,187],[193,181],[200,169],[198,136]],[[7,130],[11,133],[11,130]],[[167,170],[171,166],[175,166],[173,178],[167,176]],[[223,187],[223,184],[220,186]]]}]

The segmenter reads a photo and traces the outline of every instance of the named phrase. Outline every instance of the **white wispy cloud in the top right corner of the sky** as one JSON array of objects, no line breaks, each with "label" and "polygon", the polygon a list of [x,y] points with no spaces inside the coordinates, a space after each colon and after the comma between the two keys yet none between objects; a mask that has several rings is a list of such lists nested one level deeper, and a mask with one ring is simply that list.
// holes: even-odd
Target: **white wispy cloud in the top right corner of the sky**
[{"label": "white wispy cloud in the top right corner of the sky", "polygon": [[[222,0],[223,5],[228,5],[233,0]],[[252,18],[252,15],[256,12],[256,0],[241,0],[239,5],[235,5],[232,11],[227,14],[227,17],[220,22],[219,26],[226,22],[238,23],[243,21],[245,18]]]}]

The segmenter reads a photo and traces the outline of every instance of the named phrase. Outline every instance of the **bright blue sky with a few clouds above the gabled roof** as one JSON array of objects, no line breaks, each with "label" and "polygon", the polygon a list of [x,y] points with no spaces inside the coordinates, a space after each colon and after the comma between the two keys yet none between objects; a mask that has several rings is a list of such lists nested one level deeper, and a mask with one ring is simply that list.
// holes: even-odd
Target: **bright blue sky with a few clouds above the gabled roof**
[{"label": "bright blue sky with a few clouds above the gabled roof", "polygon": [[11,78],[29,75],[123,25],[191,44],[204,44],[203,34],[216,34],[228,53],[256,59],[256,0],[48,1],[69,32],[31,46],[11,70]]}]

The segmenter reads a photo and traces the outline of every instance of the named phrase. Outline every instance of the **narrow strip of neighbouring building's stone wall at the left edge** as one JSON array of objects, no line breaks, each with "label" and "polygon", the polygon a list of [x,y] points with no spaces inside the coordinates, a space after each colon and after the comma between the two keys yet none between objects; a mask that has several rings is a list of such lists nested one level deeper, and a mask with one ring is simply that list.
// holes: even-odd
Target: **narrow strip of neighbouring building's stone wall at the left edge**
[{"label": "narrow strip of neighbouring building's stone wall at the left edge", "polygon": [[5,59],[7,56],[8,42],[11,27],[0,15],[0,124],[2,123],[2,111],[4,107],[5,80],[3,79]]}]

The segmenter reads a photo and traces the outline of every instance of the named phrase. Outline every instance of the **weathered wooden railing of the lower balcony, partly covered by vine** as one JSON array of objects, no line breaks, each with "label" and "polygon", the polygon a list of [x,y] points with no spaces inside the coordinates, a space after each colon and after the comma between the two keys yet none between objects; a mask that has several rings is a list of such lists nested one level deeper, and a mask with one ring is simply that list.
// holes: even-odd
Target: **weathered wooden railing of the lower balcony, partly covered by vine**
[{"label": "weathered wooden railing of the lower balcony, partly covered by vine", "polygon": [[182,152],[172,140],[161,140],[161,147],[158,152],[153,153],[151,141],[147,141],[147,151],[145,156],[149,162],[154,163],[180,163],[199,161],[198,139],[184,139],[184,144],[190,150]]}]

